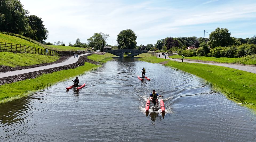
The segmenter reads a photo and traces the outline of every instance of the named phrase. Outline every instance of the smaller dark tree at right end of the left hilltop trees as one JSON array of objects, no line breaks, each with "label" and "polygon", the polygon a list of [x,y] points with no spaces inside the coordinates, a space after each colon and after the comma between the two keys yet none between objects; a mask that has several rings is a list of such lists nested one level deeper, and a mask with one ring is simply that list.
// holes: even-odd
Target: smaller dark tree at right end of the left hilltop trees
[{"label": "smaller dark tree at right end of the left hilltop trees", "polygon": [[31,30],[25,35],[27,35],[31,39],[34,39],[40,42],[42,42],[43,40],[46,40],[49,32],[44,27],[45,25],[43,25],[43,20],[36,15],[30,15],[28,19],[29,19],[29,26]]}]

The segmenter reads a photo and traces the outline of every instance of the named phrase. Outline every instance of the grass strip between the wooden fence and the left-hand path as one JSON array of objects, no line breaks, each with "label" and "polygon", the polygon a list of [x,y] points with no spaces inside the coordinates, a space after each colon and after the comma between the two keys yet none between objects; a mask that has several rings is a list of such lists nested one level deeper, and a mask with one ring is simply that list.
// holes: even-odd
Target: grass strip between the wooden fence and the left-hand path
[{"label": "grass strip between the wooden fence and the left-hand path", "polygon": [[60,57],[30,53],[0,52],[0,66],[30,66],[57,61]]}]

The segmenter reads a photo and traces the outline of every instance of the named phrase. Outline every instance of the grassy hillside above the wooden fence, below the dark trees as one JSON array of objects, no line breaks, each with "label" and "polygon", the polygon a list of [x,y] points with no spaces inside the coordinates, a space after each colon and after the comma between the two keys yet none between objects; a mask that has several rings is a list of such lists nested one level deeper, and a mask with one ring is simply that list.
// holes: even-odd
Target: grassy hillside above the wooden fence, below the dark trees
[{"label": "grassy hillside above the wooden fence, below the dark trees", "polygon": [[21,38],[16,37],[16,36],[6,35],[6,34],[2,34],[2,33],[0,33],[0,42],[1,43],[3,42],[3,43],[21,44],[21,45],[26,45],[26,46],[30,46],[30,47],[45,49],[44,47],[42,47],[42,46],[40,46],[36,43],[27,41],[25,39],[21,39]]}]

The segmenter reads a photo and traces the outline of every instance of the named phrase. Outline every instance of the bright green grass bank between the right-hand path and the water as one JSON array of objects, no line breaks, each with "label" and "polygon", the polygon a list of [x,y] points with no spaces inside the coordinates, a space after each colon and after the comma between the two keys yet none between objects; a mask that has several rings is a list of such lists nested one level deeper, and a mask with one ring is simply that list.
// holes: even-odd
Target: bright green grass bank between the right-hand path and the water
[{"label": "bright green grass bank between the right-hand path and the water", "polygon": [[152,55],[140,58],[139,60],[151,63],[165,61],[166,66],[171,66],[201,77],[213,89],[222,92],[236,102],[243,103],[247,107],[256,110],[256,74],[254,73],[222,66],[176,62],[157,58]]}]

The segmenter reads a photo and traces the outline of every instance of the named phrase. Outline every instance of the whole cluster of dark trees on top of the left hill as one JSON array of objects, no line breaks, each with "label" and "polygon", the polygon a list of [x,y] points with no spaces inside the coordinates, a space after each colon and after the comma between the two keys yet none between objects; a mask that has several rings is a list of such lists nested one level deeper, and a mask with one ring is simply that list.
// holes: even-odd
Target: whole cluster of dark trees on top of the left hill
[{"label": "whole cluster of dark trees on top of the left hill", "polygon": [[43,43],[49,31],[43,20],[36,15],[28,16],[29,11],[23,9],[19,0],[0,1],[0,30],[24,35]]}]

